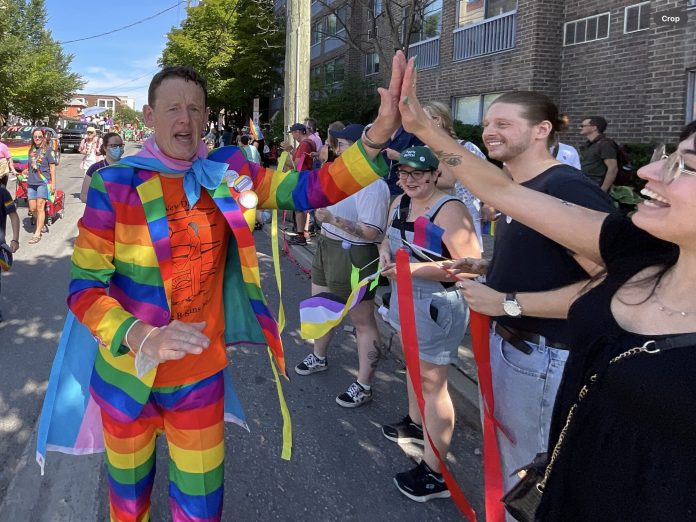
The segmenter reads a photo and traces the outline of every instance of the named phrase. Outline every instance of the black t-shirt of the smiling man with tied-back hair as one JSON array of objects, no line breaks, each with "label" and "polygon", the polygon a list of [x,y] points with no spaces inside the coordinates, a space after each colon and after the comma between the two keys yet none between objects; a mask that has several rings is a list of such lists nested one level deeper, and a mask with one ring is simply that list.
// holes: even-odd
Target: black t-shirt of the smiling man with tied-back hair
[{"label": "black t-shirt of the smiling man with tied-back hair", "polygon": [[[568,165],[555,165],[522,185],[594,210],[615,210],[599,187]],[[499,292],[553,290],[589,277],[565,247],[505,215],[498,219],[495,234],[486,281]],[[525,316],[495,319],[503,325],[543,335],[549,341],[568,343],[566,321]]]}]

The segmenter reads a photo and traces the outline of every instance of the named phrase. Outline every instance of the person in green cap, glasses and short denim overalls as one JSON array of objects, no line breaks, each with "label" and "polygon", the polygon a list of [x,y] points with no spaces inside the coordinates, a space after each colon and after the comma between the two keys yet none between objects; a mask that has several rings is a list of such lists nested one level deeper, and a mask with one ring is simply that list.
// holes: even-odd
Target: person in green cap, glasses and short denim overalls
[{"label": "person in green cap, glasses and short denim overalls", "polygon": [[[382,274],[392,280],[387,317],[396,331],[401,332],[394,258],[400,248],[406,247],[410,251],[425,426],[440,455],[445,458],[454,431],[454,407],[447,389],[447,371],[449,365],[458,359],[458,348],[469,314],[453,279],[433,259],[480,258],[481,247],[464,203],[438,187],[439,163],[426,147],[410,147],[401,152],[397,172],[404,193],[392,203],[387,237],[379,248],[379,257]],[[410,246],[416,239],[417,220],[429,239],[437,241],[441,234],[441,256]],[[410,471],[398,473],[394,483],[401,493],[417,502],[448,498],[450,492],[440,473],[439,461],[430,444],[425,443],[423,419],[408,376],[407,389],[408,415],[399,422],[383,426],[382,433],[399,444],[415,442],[423,445],[423,460]]]}]

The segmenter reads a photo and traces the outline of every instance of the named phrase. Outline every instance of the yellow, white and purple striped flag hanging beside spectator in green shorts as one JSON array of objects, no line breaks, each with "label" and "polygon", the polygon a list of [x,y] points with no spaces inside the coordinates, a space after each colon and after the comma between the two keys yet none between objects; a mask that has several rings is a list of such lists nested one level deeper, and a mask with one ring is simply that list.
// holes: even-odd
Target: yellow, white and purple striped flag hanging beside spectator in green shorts
[{"label": "yellow, white and purple striped flag hanging beside spectator in green shorts", "polygon": [[362,301],[367,286],[376,285],[380,271],[360,281],[344,302],[329,292],[313,295],[300,302],[300,335],[303,339],[318,339],[338,326],[355,305]]}]

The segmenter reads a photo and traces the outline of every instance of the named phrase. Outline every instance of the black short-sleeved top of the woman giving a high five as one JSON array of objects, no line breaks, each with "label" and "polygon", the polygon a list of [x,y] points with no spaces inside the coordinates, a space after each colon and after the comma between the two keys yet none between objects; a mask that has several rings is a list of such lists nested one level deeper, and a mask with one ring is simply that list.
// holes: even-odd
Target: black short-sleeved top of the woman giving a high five
[{"label": "black short-sleeved top of the woman giving a high five", "polygon": [[631,277],[676,259],[678,249],[619,215],[605,220],[600,249],[607,276],[570,309],[572,349],[550,449],[582,385],[594,373],[600,378],[574,414],[538,519],[696,520],[696,346],[608,365],[630,348],[665,337],[622,329],[611,301]]}]

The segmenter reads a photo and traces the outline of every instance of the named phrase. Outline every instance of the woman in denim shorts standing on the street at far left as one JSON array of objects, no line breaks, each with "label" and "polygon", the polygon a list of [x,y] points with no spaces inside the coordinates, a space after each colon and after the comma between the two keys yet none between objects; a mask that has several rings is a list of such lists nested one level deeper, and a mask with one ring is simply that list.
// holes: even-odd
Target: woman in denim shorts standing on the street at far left
[{"label": "woman in denim shorts standing on the street at far left", "polygon": [[[56,188],[56,160],[50,147],[50,141],[43,129],[35,128],[31,132],[27,162],[27,199],[36,228],[28,241],[30,245],[41,241],[41,234],[48,232],[46,226],[46,200],[49,192]],[[50,183],[50,186],[49,186]]]}]

